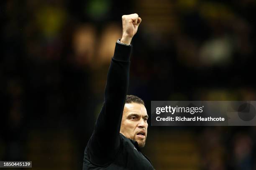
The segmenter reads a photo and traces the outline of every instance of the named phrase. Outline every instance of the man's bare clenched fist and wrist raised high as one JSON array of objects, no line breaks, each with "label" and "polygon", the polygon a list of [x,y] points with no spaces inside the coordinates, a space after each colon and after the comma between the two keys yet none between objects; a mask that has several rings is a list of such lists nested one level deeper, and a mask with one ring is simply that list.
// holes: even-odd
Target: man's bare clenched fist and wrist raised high
[{"label": "man's bare clenched fist and wrist raised high", "polygon": [[138,26],[141,23],[141,18],[138,17],[138,14],[123,15],[122,23],[123,36],[120,41],[125,44],[130,44],[133,36],[136,34],[138,30]]}]

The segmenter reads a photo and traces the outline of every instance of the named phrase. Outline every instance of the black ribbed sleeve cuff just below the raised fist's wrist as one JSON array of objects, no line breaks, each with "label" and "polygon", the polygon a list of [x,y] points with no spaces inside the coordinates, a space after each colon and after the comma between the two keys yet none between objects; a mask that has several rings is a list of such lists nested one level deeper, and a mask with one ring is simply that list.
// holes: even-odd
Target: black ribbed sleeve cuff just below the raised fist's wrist
[{"label": "black ribbed sleeve cuff just below the raised fist's wrist", "polygon": [[132,45],[122,45],[118,42],[115,43],[114,59],[120,61],[130,61],[132,52]]}]

